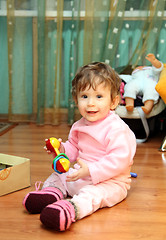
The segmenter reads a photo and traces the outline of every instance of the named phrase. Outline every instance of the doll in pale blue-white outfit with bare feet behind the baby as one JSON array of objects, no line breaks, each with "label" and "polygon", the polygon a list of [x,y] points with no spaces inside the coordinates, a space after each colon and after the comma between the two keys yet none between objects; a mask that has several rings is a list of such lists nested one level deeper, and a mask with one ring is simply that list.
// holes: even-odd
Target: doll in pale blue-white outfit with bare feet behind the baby
[{"label": "doll in pale blue-white outfit with bare feet behind the baby", "polygon": [[151,62],[152,66],[137,67],[131,75],[121,74],[120,77],[126,82],[124,87],[126,109],[132,112],[134,100],[137,95],[142,95],[144,103],[142,110],[145,114],[149,114],[153,105],[159,99],[159,94],[155,90],[155,86],[163,69],[163,63],[157,60],[152,53],[149,53],[145,58]]}]

